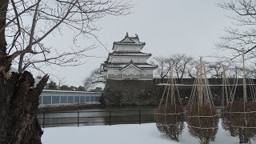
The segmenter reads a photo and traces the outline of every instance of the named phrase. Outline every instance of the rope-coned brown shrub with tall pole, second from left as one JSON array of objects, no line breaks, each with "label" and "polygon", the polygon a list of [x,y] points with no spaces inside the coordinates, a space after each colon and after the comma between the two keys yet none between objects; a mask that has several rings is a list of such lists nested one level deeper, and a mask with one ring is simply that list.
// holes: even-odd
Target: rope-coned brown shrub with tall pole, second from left
[{"label": "rope-coned brown shrub with tall pole, second from left", "polygon": [[198,78],[195,79],[187,106],[186,118],[188,129],[192,136],[198,138],[200,143],[208,144],[214,141],[218,131],[218,115],[211,95],[209,82],[206,79],[206,70],[202,73],[202,58],[198,66]]}]

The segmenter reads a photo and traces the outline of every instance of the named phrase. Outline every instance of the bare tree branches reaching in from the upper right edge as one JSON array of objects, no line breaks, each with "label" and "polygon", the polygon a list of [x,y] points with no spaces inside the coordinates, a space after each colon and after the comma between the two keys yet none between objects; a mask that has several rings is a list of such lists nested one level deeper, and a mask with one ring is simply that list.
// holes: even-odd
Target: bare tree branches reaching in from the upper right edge
[{"label": "bare tree branches reaching in from the upper right edge", "polygon": [[229,10],[234,26],[225,29],[226,35],[216,43],[218,50],[228,50],[231,57],[237,58],[242,54],[242,48],[249,58],[255,58],[256,52],[256,2],[252,0],[232,0],[219,2],[218,6]]}]

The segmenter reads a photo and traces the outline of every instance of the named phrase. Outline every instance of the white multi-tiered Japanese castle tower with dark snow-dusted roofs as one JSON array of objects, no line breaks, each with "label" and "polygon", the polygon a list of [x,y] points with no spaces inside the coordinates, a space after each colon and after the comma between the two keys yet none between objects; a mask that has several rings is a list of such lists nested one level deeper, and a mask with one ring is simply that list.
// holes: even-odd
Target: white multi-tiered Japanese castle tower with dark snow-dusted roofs
[{"label": "white multi-tiered Japanese castle tower with dark snow-dusted roofs", "polygon": [[145,42],[140,42],[138,35],[130,37],[126,33],[120,42],[114,42],[113,52],[101,65],[104,79],[153,79],[153,70],[158,66],[146,62],[152,54],[142,53]]}]

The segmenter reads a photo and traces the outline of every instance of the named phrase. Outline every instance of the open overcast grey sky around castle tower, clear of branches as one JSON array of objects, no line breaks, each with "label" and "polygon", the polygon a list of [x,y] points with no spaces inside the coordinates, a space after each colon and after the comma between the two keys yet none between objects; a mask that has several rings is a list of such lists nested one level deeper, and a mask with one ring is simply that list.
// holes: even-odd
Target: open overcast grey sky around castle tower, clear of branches
[{"label": "open overcast grey sky around castle tower, clear of branches", "polygon": [[[114,41],[138,34],[146,42],[143,52],[152,57],[186,53],[194,58],[214,54],[214,42],[230,26],[226,11],[216,6],[213,0],[134,0],[133,13],[126,16],[106,17],[96,24],[102,29],[96,32],[99,40],[112,51]],[[62,30],[62,36],[46,39],[48,46],[58,49],[70,48],[73,32]],[[78,39],[80,46],[97,45],[88,55],[105,58],[86,58],[86,64],[75,67],[45,68],[47,73],[64,78],[61,84],[79,86],[84,78],[106,60],[108,52],[94,38]],[[52,77],[53,78],[53,77]],[[53,78],[55,82],[58,80]]]}]

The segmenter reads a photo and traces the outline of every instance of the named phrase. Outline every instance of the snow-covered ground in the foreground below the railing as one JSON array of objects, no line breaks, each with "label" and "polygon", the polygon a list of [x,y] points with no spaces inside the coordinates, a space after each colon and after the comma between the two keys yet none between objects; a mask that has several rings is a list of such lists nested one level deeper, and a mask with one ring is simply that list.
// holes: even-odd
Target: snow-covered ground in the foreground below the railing
[{"label": "snow-covered ground in the foreground below the railing", "polygon": [[[155,123],[115,125],[115,126],[83,126],[45,128],[42,135],[44,144],[198,144],[198,140],[190,136],[187,127],[183,130],[180,142],[175,142],[161,134]],[[219,125],[218,134],[212,144],[237,144],[237,137],[231,137],[228,131]],[[255,143],[255,142],[253,142]]]}]

